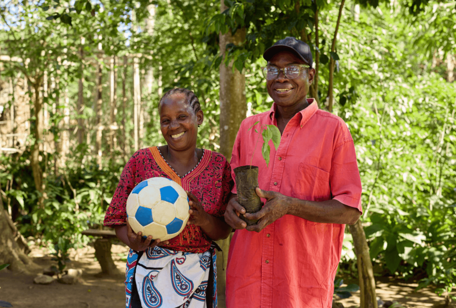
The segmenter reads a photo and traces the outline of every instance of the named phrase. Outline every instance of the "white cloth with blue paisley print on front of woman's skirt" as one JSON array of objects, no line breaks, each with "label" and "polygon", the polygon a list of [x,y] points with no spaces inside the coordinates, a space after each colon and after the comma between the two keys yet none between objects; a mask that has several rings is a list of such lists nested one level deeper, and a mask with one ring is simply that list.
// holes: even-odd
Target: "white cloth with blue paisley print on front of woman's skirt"
[{"label": "white cloth with blue paisley print on front of woman's skirt", "polygon": [[[200,262],[212,257],[215,252],[212,256],[210,251],[184,255],[161,247],[148,249],[137,261],[135,272],[142,307],[205,308],[210,268],[203,270]],[[215,303],[213,307],[217,307]]]}]

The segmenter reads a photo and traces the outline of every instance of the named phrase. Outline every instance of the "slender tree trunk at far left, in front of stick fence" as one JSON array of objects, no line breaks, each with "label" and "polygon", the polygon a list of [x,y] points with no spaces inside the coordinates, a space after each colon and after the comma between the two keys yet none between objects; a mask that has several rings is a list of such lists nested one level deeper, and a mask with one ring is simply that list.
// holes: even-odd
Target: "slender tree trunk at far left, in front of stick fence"
[{"label": "slender tree trunk at far left, in front of stick fence", "polygon": [[35,129],[33,135],[35,137],[35,143],[31,149],[31,168],[33,173],[33,180],[35,182],[36,190],[39,192],[38,205],[41,209],[44,208],[44,183],[43,183],[43,171],[40,167],[40,146],[43,142],[43,103],[40,99],[40,87],[41,87],[41,78],[36,78],[35,83],[33,84],[33,89],[35,90],[35,99],[33,102],[33,109],[35,113]]}]

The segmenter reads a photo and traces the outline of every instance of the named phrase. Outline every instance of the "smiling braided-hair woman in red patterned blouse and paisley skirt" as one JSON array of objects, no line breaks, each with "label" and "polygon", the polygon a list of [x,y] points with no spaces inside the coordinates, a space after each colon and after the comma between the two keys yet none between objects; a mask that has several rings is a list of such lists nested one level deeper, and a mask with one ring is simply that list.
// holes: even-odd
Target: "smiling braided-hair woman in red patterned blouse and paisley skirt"
[{"label": "smiling braided-hair woman in red patterned blouse and paisley skirt", "polygon": [[[125,165],[104,225],[130,247],[126,268],[126,307],[217,307],[213,240],[228,237],[223,220],[233,186],[223,155],[198,149],[203,112],[195,94],[171,89],[159,104],[166,146],[136,151]],[[184,230],[161,242],[135,234],[126,220],[125,204],[132,189],[150,177],[166,177],[188,194],[191,214]]]}]

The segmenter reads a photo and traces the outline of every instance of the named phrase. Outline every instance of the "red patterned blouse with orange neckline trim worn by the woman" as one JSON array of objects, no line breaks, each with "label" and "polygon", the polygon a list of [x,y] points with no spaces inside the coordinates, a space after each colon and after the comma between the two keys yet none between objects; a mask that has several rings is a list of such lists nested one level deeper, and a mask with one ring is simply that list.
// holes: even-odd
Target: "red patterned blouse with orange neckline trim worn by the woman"
[{"label": "red patterned blouse with orange neckline trim worn by the woman", "polygon": [[[104,225],[126,224],[125,205],[130,192],[135,186],[150,177],[169,178],[185,190],[191,191],[200,201],[204,210],[212,216],[222,217],[228,203],[228,194],[233,187],[231,168],[222,154],[203,150],[203,156],[191,172],[180,178],[161,157],[157,147],[141,149],[135,152],[120,175],[119,185],[109,204]],[[207,251],[211,239],[193,224],[187,225],[176,237],[163,246],[175,251],[200,253]]]}]

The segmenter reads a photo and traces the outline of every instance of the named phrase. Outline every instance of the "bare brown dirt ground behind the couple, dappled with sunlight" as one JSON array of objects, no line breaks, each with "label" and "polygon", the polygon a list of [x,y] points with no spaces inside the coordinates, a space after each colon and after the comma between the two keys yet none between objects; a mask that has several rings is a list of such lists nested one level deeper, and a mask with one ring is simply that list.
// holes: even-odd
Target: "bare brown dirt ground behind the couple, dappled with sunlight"
[{"label": "bare brown dirt ground behind the couple, dappled with sunlight", "polygon": [[[49,251],[32,246],[30,256],[39,266],[46,268],[55,265]],[[112,255],[121,272],[124,271],[127,248],[113,245]],[[94,249],[87,246],[70,254],[71,263],[68,268],[83,269],[82,281],[75,285],[52,282],[49,285],[33,283],[33,278],[40,270],[29,276],[16,274],[4,269],[0,271],[0,300],[10,302],[15,308],[122,308],[125,307],[124,276],[97,277],[101,269],[94,259]],[[394,300],[405,308],[440,308],[443,298],[437,296],[430,288],[415,292],[417,284],[404,283],[388,278],[377,280],[377,296],[383,301]],[[456,293],[456,292],[455,292]],[[351,298],[335,301],[345,308],[359,307],[359,291]],[[224,308],[223,298],[219,300],[219,308]],[[222,305],[220,305],[222,304]]]}]

